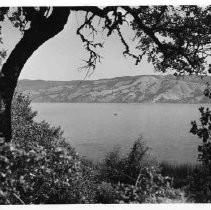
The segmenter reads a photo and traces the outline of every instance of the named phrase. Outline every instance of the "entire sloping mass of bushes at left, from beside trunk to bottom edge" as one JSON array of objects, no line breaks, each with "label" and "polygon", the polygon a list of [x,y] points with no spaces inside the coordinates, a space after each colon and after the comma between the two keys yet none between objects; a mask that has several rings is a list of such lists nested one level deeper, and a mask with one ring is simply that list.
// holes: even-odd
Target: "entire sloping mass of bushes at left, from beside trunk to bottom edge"
[{"label": "entire sloping mass of bushes at left, from beside trunk to bottom edge", "polygon": [[13,141],[0,147],[0,203],[93,202],[93,171],[64,142],[60,128],[33,121],[29,104],[28,97],[15,97]]}]

